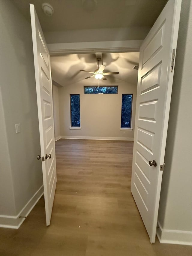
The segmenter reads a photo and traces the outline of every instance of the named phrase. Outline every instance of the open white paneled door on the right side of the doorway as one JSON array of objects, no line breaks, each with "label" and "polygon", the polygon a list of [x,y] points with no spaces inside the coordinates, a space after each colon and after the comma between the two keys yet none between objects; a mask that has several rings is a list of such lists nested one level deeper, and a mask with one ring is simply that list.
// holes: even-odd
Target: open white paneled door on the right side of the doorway
[{"label": "open white paneled door on the right side of the doorway", "polygon": [[180,10],[181,1],[168,1],[140,47],[131,192],[150,242],[155,242]]}]

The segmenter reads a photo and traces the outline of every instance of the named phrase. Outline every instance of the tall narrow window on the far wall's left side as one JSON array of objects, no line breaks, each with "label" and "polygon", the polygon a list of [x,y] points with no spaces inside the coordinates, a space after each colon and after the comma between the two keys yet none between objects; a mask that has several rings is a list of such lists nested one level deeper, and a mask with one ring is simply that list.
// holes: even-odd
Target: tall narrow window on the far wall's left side
[{"label": "tall narrow window on the far wall's left side", "polygon": [[71,127],[80,127],[80,96],[70,94]]}]

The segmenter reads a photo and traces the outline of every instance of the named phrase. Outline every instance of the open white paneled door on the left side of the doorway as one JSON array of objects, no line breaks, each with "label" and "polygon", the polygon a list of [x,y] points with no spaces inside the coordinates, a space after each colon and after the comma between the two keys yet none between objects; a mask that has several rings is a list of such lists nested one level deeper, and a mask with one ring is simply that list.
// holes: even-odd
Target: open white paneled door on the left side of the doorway
[{"label": "open white paneled door on the left side of the doorway", "polygon": [[55,137],[50,56],[34,5],[30,4],[35,81],[38,103],[46,225],[49,226],[56,188]]}]

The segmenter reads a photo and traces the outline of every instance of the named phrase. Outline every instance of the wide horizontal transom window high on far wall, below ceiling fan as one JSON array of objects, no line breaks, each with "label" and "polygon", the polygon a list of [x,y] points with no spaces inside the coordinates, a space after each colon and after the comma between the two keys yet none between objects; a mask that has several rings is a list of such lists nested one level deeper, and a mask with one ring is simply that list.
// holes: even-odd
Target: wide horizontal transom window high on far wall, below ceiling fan
[{"label": "wide horizontal transom window high on far wall, below ceiling fan", "polygon": [[84,86],[84,94],[117,94],[118,86]]}]

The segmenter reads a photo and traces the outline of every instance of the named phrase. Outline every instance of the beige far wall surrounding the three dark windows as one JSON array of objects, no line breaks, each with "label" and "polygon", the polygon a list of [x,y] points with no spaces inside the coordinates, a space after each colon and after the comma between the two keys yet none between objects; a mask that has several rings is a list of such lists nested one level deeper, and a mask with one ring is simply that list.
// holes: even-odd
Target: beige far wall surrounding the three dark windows
[{"label": "beige far wall surrounding the three dark windows", "polygon": [[[59,111],[61,136],[110,137],[133,139],[137,85],[115,79],[113,84],[101,81],[100,85],[118,85],[118,94],[84,94],[84,86],[98,85],[98,80],[83,80],[59,88]],[[133,94],[133,131],[121,131],[122,93]],[[80,94],[81,130],[70,130],[70,94]]]}]

